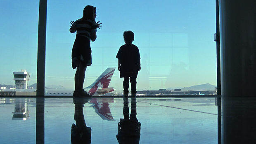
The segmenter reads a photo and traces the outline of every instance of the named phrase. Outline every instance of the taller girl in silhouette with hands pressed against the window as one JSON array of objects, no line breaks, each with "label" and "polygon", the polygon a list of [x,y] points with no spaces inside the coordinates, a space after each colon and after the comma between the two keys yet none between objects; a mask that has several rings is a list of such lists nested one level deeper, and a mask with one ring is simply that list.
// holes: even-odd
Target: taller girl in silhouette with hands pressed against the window
[{"label": "taller girl in silhouette with hands pressed against the window", "polygon": [[77,21],[71,21],[70,33],[76,32],[76,40],[72,49],[72,67],[76,69],[75,74],[75,91],[74,97],[90,97],[83,90],[83,82],[85,79],[85,70],[87,66],[92,65],[92,51],[90,41],[97,38],[97,28],[100,28],[100,21],[95,22],[96,7],[87,5],[83,9],[83,17]]}]

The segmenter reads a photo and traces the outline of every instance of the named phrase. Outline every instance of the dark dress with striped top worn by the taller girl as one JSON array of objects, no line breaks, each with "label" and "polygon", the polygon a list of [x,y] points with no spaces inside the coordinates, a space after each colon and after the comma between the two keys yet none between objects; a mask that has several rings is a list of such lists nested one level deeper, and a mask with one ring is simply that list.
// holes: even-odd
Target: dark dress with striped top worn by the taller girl
[{"label": "dark dress with striped top worn by the taller girl", "polygon": [[76,26],[76,40],[72,49],[72,68],[76,69],[78,61],[80,61],[83,67],[92,65],[92,51],[90,47],[91,33],[95,33],[97,30],[97,24],[90,19],[75,21],[73,26]]}]

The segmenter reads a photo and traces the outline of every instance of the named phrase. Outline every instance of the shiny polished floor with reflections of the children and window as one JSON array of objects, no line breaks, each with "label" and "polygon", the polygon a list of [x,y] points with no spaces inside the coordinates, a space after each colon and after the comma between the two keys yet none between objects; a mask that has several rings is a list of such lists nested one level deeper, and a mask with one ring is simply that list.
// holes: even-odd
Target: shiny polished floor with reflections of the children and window
[{"label": "shiny polished floor with reflections of the children and window", "polygon": [[255,104],[220,97],[0,98],[0,143],[255,144]]}]

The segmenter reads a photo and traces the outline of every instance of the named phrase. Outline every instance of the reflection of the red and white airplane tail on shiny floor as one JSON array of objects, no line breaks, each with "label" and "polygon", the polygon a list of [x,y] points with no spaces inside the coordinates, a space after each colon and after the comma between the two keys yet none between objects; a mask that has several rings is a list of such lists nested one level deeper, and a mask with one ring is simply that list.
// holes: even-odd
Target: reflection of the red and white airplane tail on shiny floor
[{"label": "reflection of the red and white airplane tail on shiny floor", "polygon": [[92,98],[90,100],[89,104],[92,104],[93,109],[95,109],[95,112],[103,119],[107,121],[115,121],[110,108],[109,108],[109,102],[114,102],[114,100],[98,100],[97,98]]}]

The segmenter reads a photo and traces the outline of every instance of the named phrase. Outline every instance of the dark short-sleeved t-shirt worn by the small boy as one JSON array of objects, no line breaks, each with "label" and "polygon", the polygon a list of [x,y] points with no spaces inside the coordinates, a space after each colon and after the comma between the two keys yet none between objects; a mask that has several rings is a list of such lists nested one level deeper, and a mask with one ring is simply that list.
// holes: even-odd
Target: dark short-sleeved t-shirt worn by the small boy
[{"label": "dark short-sleeved t-shirt worn by the small boy", "polygon": [[140,52],[134,44],[124,44],[120,47],[116,58],[121,60],[120,77],[137,77]]}]

